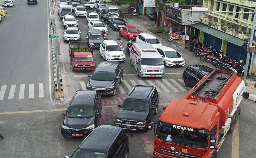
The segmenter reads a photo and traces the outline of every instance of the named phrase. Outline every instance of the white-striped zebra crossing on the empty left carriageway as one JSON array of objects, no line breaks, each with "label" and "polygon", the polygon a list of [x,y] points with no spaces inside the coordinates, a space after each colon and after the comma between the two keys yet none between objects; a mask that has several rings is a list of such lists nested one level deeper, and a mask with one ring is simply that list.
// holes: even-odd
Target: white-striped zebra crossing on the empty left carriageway
[{"label": "white-striped zebra crossing on the empty left carriageway", "polygon": [[44,98],[44,84],[20,84],[0,86],[0,100]]}]

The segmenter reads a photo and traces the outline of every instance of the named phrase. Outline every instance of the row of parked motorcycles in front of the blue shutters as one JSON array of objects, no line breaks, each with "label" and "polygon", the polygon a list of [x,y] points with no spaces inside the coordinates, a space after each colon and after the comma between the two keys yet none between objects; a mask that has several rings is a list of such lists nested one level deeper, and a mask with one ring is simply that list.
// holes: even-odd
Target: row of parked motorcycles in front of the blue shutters
[{"label": "row of parked motorcycles in front of the blue shutters", "polygon": [[[211,63],[216,68],[224,71],[235,71],[240,77],[243,77],[245,72],[243,65],[243,60],[234,60],[228,56],[223,55],[223,51],[217,52],[214,49],[213,45],[209,45],[206,42],[202,44],[198,42],[198,44],[190,42],[189,51],[193,52],[196,57],[199,57],[201,61],[206,61],[207,63]],[[250,77],[250,74],[247,72],[247,78]]]}]

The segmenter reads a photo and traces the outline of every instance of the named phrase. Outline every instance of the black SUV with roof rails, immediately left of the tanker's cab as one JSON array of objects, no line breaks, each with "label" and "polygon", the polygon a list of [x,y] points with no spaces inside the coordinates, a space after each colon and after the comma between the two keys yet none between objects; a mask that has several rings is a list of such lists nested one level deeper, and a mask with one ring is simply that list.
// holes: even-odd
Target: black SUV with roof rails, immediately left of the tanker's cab
[{"label": "black SUV with roof rails, immediately left of the tanker's cab", "polygon": [[148,131],[151,118],[158,111],[159,96],[155,87],[136,85],[123,100],[116,114],[115,126],[126,130]]}]

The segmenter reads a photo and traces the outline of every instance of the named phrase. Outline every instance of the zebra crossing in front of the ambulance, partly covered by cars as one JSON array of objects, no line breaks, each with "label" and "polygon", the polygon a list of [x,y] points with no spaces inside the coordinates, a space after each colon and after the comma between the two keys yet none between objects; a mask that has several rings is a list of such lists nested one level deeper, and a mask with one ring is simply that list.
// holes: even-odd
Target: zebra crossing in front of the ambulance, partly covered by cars
[{"label": "zebra crossing in front of the ambulance, partly covered by cars", "polygon": [[[84,81],[80,81],[82,90],[86,90]],[[154,86],[158,92],[187,92],[183,79],[155,79],[155,80],[123,80],[117,87],[117,93],[127,94],[135,85]]]}]

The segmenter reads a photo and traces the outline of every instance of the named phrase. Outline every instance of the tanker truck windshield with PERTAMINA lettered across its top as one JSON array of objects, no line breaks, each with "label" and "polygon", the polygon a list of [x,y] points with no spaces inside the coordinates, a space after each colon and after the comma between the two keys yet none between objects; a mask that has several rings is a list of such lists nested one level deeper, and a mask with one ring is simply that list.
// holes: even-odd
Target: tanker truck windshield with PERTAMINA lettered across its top
[{"label": "tanker truck windshield with PERTAMINA lettered across its top", "polygon": [[206,147],[209,132],[203,129],[194,129],[160,121],[156,130],[156,137],[172,143]]}]

